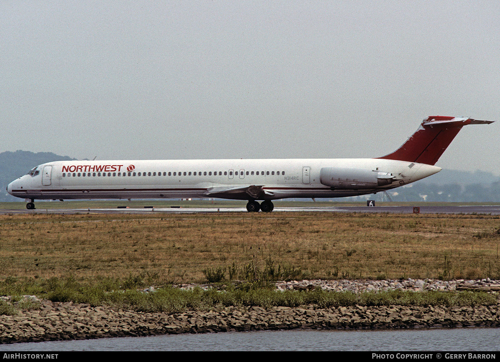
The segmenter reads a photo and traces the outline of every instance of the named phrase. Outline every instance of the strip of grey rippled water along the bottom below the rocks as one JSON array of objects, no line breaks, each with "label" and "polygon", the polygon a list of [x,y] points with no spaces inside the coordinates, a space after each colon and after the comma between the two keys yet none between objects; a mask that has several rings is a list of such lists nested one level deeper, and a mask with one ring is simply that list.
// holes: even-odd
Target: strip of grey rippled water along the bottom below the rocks
[{"label": "strip of grey rippled water along the bottom below the rocks", "polygon": [[498,351],[500,328],[278,330],[170,334],[0,345],[0,351],[343,350]]}]

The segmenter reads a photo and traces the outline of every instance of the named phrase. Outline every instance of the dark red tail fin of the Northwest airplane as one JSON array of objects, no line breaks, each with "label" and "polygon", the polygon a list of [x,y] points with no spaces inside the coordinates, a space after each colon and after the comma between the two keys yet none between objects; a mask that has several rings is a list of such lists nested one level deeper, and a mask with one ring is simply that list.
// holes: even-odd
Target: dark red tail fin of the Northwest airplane
[{"label": "dark red tail fin of the Northwest airplane", "polygon": [[430,116],[398,149],[383,157],[426,164],[435,164],[460,128],[467,124],[493,123],[472,118]]}]

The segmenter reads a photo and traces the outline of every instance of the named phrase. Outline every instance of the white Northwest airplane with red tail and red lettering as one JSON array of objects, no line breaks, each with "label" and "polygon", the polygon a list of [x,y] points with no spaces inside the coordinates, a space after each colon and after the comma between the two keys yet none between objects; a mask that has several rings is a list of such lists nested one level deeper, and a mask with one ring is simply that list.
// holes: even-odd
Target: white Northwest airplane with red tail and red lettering
[{"label": "white Northwest airplane with red tail and red lettering", "polygon": [[376,158],[53,161],[10,182],[7,192],[29,201],[27,209],[35,199],[216,197],[270,212],[276,199],[363,195],[430,176],[462,126],[488,123],[429,116],[398,149]]}]

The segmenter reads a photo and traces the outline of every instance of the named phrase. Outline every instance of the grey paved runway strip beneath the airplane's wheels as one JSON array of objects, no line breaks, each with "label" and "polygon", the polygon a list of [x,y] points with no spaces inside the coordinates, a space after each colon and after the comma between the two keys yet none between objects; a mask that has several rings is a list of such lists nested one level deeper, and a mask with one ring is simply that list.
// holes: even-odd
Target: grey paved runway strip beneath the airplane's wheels
[{"label": "grey paved runway strip beneath the airplane's wheels", "polygon": [[[2,209],[0,214],[75,214],[75,213],[213,213],[247,212],[245,207],[143,207],[143,208],[37,208]],[[331,207],[274,207],[276,212],[370,212],[370,213],[442,213],[442,214],[487,214],[500,215],[500,205],[463,206],[331,206]],[[261,212],[263,213],[263,212]]]}]

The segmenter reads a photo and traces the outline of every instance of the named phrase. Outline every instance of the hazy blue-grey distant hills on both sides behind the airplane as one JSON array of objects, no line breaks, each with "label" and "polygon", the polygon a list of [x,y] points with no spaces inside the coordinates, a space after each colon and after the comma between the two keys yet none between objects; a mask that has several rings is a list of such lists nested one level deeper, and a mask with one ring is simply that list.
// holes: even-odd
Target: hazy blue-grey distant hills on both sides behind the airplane
[{"label": "hazy blue-grey distant hills on both sides behind the airplane", "polygon": [[[51,152],[17,150],[0,153],[0,201],[19,201],[7,193],[7,184],[26,174],[31,168],[50,161],[75,160]],[[442,171],[407,186],[387,192],[393,201],[449,201],[449,202],[500,202],[500,177],[490,172],[443,169]],[[374,195],[336,198],[334,200],[381,199],[382,192]],[[386,198],[384,198],[386,199]],[[333,200],[333,199],[332,199]]]}]

